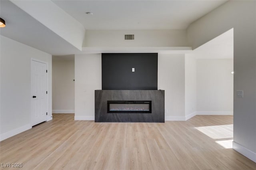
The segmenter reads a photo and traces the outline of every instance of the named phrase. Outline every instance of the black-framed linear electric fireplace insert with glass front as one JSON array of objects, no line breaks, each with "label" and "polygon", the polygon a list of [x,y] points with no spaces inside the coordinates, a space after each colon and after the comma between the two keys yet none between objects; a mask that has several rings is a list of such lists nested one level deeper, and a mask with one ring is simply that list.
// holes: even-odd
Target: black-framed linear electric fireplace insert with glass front
[{"label": "black-framed linear electric fireplace insert with glass front", "polygon": [[152,113],[151,101],[108,101],[108,113]]}]

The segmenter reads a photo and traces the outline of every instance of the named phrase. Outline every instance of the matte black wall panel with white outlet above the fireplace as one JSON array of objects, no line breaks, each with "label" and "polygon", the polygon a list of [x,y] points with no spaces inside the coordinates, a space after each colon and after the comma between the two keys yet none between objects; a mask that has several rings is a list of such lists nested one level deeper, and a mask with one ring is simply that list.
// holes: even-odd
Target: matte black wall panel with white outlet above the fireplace
[{"label": "matte black wall panel with white outlet above the fireplace", "polygon": [[158,53],[102,53],[102,90],[157,90],[157,66]]}]

